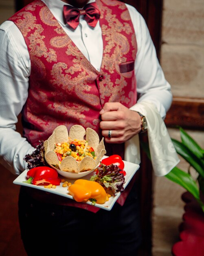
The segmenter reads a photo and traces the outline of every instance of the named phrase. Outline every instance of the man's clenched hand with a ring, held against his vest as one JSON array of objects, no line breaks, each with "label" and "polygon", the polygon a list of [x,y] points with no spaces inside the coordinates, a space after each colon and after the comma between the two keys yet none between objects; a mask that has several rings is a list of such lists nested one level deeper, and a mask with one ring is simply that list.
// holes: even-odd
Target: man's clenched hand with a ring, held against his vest
[{"label": "man's clenched hand with a ring, held against his vest", "polygon": [[[108,143],[123,143],[141,130],[140,115],[119,102],[107,102],[100,111],[100,128]],[[108,132],[111,130],[111,137]]]}]

